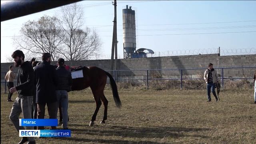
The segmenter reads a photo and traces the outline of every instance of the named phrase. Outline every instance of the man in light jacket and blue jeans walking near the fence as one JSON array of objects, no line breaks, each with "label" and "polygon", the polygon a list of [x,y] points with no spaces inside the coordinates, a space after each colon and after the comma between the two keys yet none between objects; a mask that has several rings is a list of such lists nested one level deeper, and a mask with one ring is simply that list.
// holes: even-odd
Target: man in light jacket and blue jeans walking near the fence
[{"label": "man in light jacket and blue jeans walking near the fence", "polygon": [[207,96],[208,96],[208,101],[207,102],[212,101],[211,91],[212,91],[212,94],[214,95],[214,97],[216,99],[216,102],[217,102],[218,97],[217,97],[216,92],[215,92],[215,85],[216,85],[216,83],[218,83],[219,78],[218,78],[218,73],[217,73],[216,70],[214,70],[212,63],[208,64],[208,69],[205,70],[205,72],[204,72],[204,80],[207,84]]}]

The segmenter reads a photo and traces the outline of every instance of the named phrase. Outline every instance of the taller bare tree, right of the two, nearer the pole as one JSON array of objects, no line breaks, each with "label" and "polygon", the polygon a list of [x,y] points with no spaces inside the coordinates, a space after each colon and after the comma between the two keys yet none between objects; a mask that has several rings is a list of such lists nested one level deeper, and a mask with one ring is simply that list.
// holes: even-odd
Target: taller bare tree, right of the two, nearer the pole
[{"label": "taller bare tree, right of the two, nearer the pole", "polygon": [[58,48],[58,52],[67,60],[87,60],[96,56],[101,47],[101,42],[95,30],[88,27],[82,30],[83,12],[77,4],[62,6],[62,17],[60,25],[63,28],[64,37],[62,42],[65,45]]}]

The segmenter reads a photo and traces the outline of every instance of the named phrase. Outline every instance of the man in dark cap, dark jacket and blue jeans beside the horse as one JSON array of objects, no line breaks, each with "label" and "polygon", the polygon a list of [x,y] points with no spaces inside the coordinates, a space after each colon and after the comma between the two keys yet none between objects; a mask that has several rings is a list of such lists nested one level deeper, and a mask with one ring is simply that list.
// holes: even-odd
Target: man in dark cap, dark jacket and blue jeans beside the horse
[{"label": "man in dark cap, dark jacket and blue jeans beside the horse", "polygon": [[[64,59],[58,59],[58,68],[56,68],[56,73],[58,76],[58,86],[56,88],[57,102],[56,105],[56,116],[58,112],[58,106],[62,106],[63,115],[63,129],[68,129],[68,92],[70,91],[70,86],[72,85],[71,73],[64,67]],[[60,120],[61,121],[61,120]]]}]

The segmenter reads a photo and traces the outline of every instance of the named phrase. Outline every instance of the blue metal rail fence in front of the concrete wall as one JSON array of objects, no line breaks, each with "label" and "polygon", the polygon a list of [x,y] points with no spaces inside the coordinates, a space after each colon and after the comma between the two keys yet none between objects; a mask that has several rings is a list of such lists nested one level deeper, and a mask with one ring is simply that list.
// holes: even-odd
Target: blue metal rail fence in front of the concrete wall
[{"label": "blue metal rail fence in front of the concrete wall", "polygon": [[[253,78],[225,78],[224,77],[224,69],[232,69],[232,68],[238,68],[238,69],[244,69],[244,68],[255,68],[256,67],[230,67],[230,68],[214,68],[214,69],[220,69],[221,70],[221,79],[222,79],[222,90],[224,89],[224,79],[253,79]],[[147,88],[149,87],[148,81],[149,80],[180,80],[180,89],[182,89],[182,80],[204,80],[204,78],[183,78],[183,71],[184,70],[205,70],[206,68],[186,68],[186,69],[152,69],[152,70],[106,70],[107,72],[113,72],[114,73],[114,79],[116,81],[118,80],[146,80]],[[180,78],[149,78],[148,72],[149,71],[156,71],[156,70],[179,70],[180,71]],[[124,72],[124,71],[144,71],[146,72],[147,78],[118,78],[117,72]],[[1,72],[1,74],[6,75],[6,72]],[[203,77],[203,76],[202,76]],[[1,82],[5,84],[5,93],[6,93],[6,81]],[[14,82],[16,83],[16,82]],[[15,84],[14,84],[15,85]]]}]

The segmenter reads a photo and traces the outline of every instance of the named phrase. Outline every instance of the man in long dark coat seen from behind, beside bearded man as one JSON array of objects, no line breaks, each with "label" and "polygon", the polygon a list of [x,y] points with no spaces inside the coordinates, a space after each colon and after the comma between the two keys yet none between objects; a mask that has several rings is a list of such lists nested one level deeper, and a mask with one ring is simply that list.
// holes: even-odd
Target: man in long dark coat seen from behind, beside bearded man
[{"label": "man in long dark coat seen from behind, beside bearded man", "polygon": [[[36,78],[36,104],[37,118],[44,119],[45,105],[47,104],[50,119],[56,119],[57,97],[55,88],[58,84],[56,69],[51,62],[51,54],[43,53],[42,62],[35,67],[34,73]],[[38,130],[43,130],[44,126],[38,126]],[[51,126],[55,130],[56,126]]]}]

